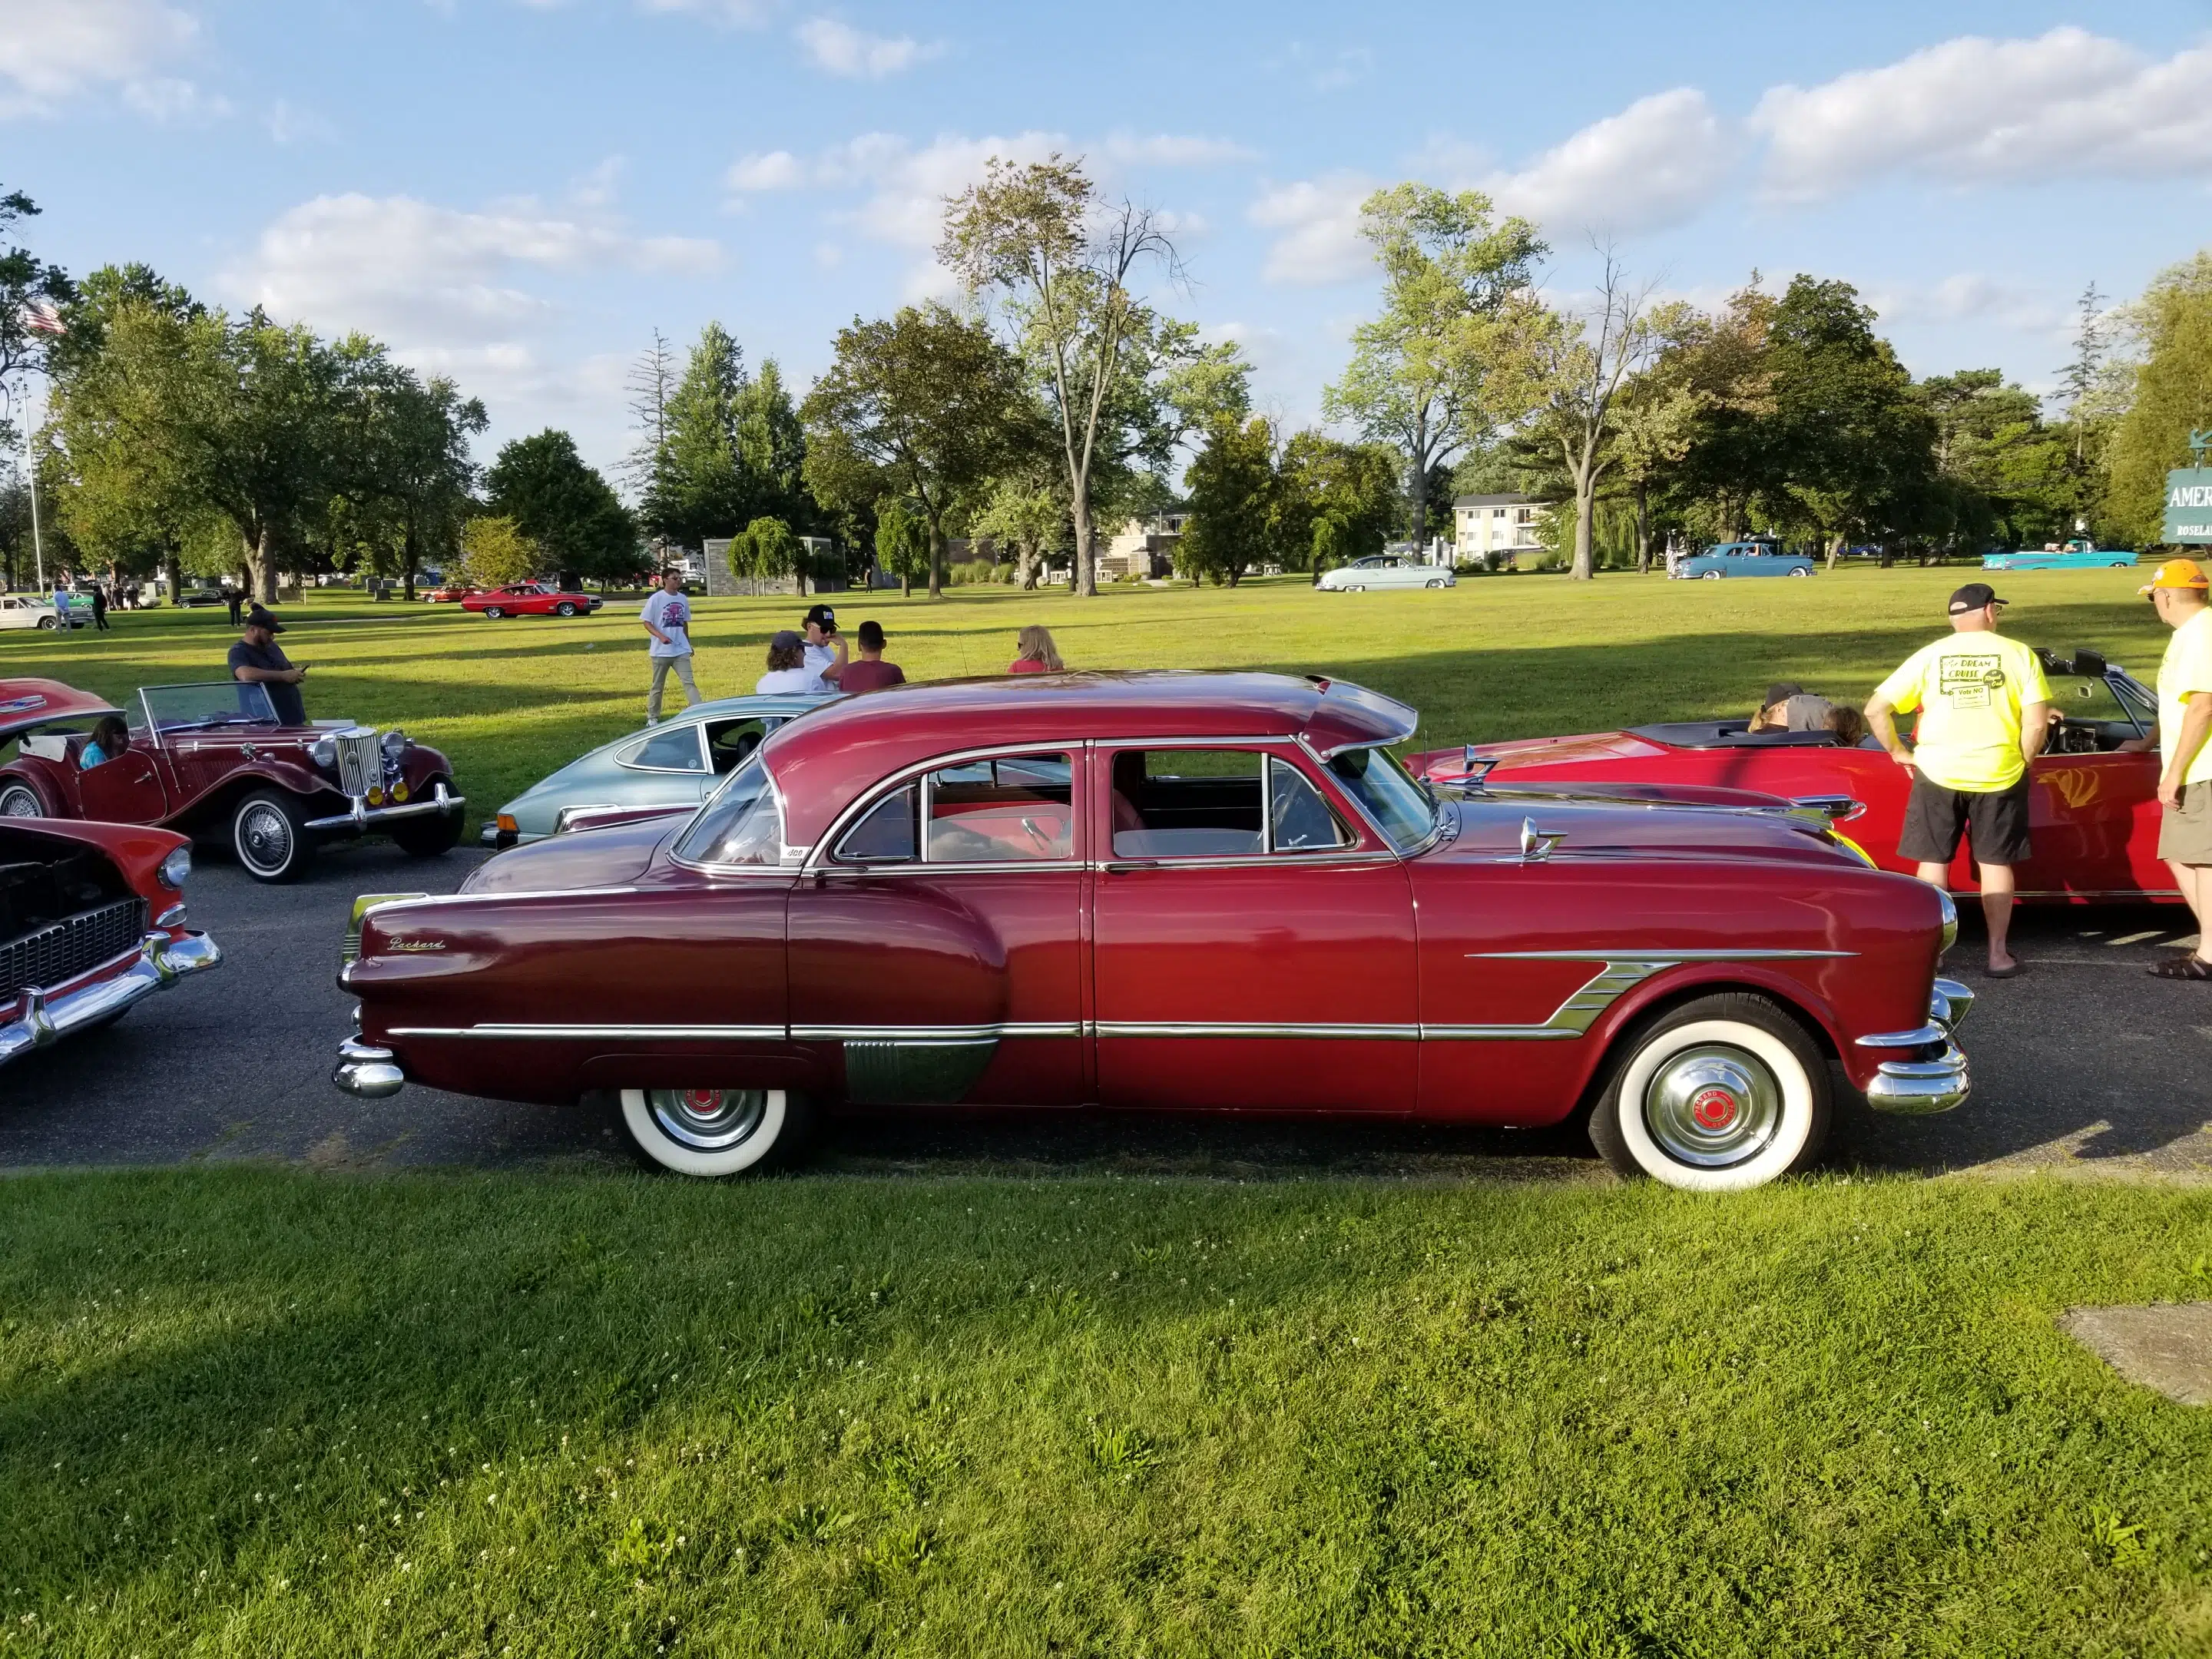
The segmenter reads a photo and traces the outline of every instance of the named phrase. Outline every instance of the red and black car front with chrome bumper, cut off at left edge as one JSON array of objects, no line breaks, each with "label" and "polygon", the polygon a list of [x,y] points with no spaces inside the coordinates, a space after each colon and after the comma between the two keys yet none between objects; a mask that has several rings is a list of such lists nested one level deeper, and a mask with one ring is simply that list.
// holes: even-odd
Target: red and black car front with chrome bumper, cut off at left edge
[{"label": "red and black car front with chrome bumper, cut off at left edge", "polygon": [[215,940],[184,922],[190,874],[168,830],[0,821],[0,1064],[217,967]]}]

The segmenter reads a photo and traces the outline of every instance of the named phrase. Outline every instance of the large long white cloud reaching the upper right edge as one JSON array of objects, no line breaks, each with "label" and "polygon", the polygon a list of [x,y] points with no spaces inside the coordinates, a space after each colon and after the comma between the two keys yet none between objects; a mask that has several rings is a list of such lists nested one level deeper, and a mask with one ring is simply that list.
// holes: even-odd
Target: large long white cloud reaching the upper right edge
[{"label": "large long white cloud reaching the upper right edge", "polygon": [[1752,128],[1765,190],[1818,201],[1887,173],[1947,184],[2212,168],[2212,49],[2163,62],[2086,29],[1962,35],[1820,86],[1774,86]]}]

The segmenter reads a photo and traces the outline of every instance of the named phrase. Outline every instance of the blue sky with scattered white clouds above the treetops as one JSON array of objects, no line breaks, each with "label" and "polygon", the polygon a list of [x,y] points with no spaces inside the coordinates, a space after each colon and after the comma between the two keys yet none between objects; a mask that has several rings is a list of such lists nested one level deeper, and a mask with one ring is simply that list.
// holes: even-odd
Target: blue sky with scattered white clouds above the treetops
[{"label": "blue sky with scattered white clouds above the treetops", "polygon": [[2084,283],[2212,241],[2212,4],[832,4],[0,0],[0,188],[38,252],[363,327],[493,440],[628,447],[624,374],[721,319],[805,385],[938,292],[938,197],[1084,155],[1177,217],[1157,299],[1316,416],[1396,179],[1717,303],[1843,276],[1920,374],[2048,387]]}]

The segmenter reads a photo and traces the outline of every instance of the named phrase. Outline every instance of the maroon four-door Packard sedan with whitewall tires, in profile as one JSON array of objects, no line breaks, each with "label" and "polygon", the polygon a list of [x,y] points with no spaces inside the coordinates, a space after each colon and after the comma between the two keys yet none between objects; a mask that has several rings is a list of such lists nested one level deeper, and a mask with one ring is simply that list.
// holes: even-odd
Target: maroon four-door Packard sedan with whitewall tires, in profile
[{"label": "maroon four-door Packard sedan with whitewall tires, in profile", "polygon": [[1964,1099],[1940,891],[1781,801],[1431,792],[1413,721],[1276,675],[830,703],[695,812],[363,898],[336,1084],[606,1091],[688,1175],[830,1102],[1586,1110],[1686,1188],[1812,1161],[1832,1060],[1878,1108]]}]

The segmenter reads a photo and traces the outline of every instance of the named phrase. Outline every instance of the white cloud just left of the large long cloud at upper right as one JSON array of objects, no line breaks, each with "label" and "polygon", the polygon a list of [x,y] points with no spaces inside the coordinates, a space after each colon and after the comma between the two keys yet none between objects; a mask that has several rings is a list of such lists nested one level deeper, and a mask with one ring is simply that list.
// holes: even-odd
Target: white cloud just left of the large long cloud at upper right
[{"label": "white cloud just left of the large long cloud at upper right", "polygon": [[1741,139],[1692,86],[1639,97],[1517,173],[1482,184],[1506,212],[1559,230],[1657,230],[1694,217],[1728,181]]}]

